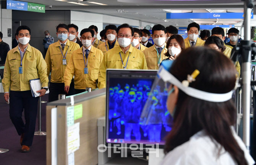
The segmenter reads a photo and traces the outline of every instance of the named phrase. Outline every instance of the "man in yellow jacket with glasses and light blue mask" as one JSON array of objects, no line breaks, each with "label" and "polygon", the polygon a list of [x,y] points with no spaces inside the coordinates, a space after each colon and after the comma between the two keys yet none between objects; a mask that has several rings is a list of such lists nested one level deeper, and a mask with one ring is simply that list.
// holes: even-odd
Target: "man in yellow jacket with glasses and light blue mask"
[{"label": "man in yellow jacket with glasses and light blue mask", "polygon": [[[68,29],[66,24],[59,24],[56,27],[59,40],[49,46],[45,56],[47,75],[51,72],[49,102],[57,100],[59,94],[67,94],[64,91],[64,72],[71,54],[80,48],[77,43],[68,40]],[[70,91],[67,95],[75,95],[74,82],[70,83]]]}]

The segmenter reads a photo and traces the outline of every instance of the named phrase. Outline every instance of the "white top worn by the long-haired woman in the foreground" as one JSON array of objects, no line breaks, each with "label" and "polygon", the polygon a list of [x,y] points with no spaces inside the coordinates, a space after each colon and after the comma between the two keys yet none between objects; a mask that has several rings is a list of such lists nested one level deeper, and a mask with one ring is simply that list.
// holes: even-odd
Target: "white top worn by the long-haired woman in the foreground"
[{"label": "white top worn by the long-haired woman in the foreground", "polygon": [[[248,165],[254,165],[254,160],[246,150],[245,144],[235,133],[233,127],[231,128],[233,136],[237,140],[238,145],[245,152],[245,159]],[[218,157],[220,144],[214,143],[214,139],[211,139],[206,135],[205,131],[199,131],[193,135],[189,141],[176,147],[164,157],[161,165],[237,165],[237,162],[231,157],[231,155],[225,151],[224,147],[220,150]],[[215,141],[216,142],[216,141]],[[217,144],[217,146],[216,146]]]}]

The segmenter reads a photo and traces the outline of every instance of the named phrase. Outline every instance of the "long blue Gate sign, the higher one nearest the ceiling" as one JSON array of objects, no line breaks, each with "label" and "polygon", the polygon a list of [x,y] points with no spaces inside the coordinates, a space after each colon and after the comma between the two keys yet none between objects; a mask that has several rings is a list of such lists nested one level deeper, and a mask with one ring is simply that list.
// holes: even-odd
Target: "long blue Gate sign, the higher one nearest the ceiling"
[{"label": "long blue Gate sign, the higher one nearest the ceiling", "polygon": [[[166,19],[243,19],[244,13],[166,13]],[[253,19],[253,13],[251,13]]]}]

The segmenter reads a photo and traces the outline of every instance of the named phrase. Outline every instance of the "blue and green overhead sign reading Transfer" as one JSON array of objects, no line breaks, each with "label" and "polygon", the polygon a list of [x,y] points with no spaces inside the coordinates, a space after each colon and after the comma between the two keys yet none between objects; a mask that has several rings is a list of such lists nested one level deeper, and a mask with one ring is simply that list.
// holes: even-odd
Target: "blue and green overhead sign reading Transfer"
[{"label": "blue and green overhead sign reading Transfer", "polygon": [[6,9],[45,13],[45,5],[15,0],[7,0]]}]

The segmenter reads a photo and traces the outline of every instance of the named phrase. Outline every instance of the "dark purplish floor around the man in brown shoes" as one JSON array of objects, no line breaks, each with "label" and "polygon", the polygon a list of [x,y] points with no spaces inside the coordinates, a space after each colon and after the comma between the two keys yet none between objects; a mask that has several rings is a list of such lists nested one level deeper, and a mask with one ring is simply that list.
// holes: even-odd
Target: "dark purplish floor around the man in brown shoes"
[{"label": "dark purplish floor around the man in brown shoes", "polygon": [[[42,97],[42,100],[48,101],[48,95]],[[46,104],[42,103],[42,131],[46,131]],[[0,148],[10,150],[0,154],[0,165],[46,165],[46,136],[35,135],[31,150],[27,153],[19,151],[21,149],[19,139],[20,136],[9,117],[9,104],[5,103],[3,93],[0,93]]]}]

